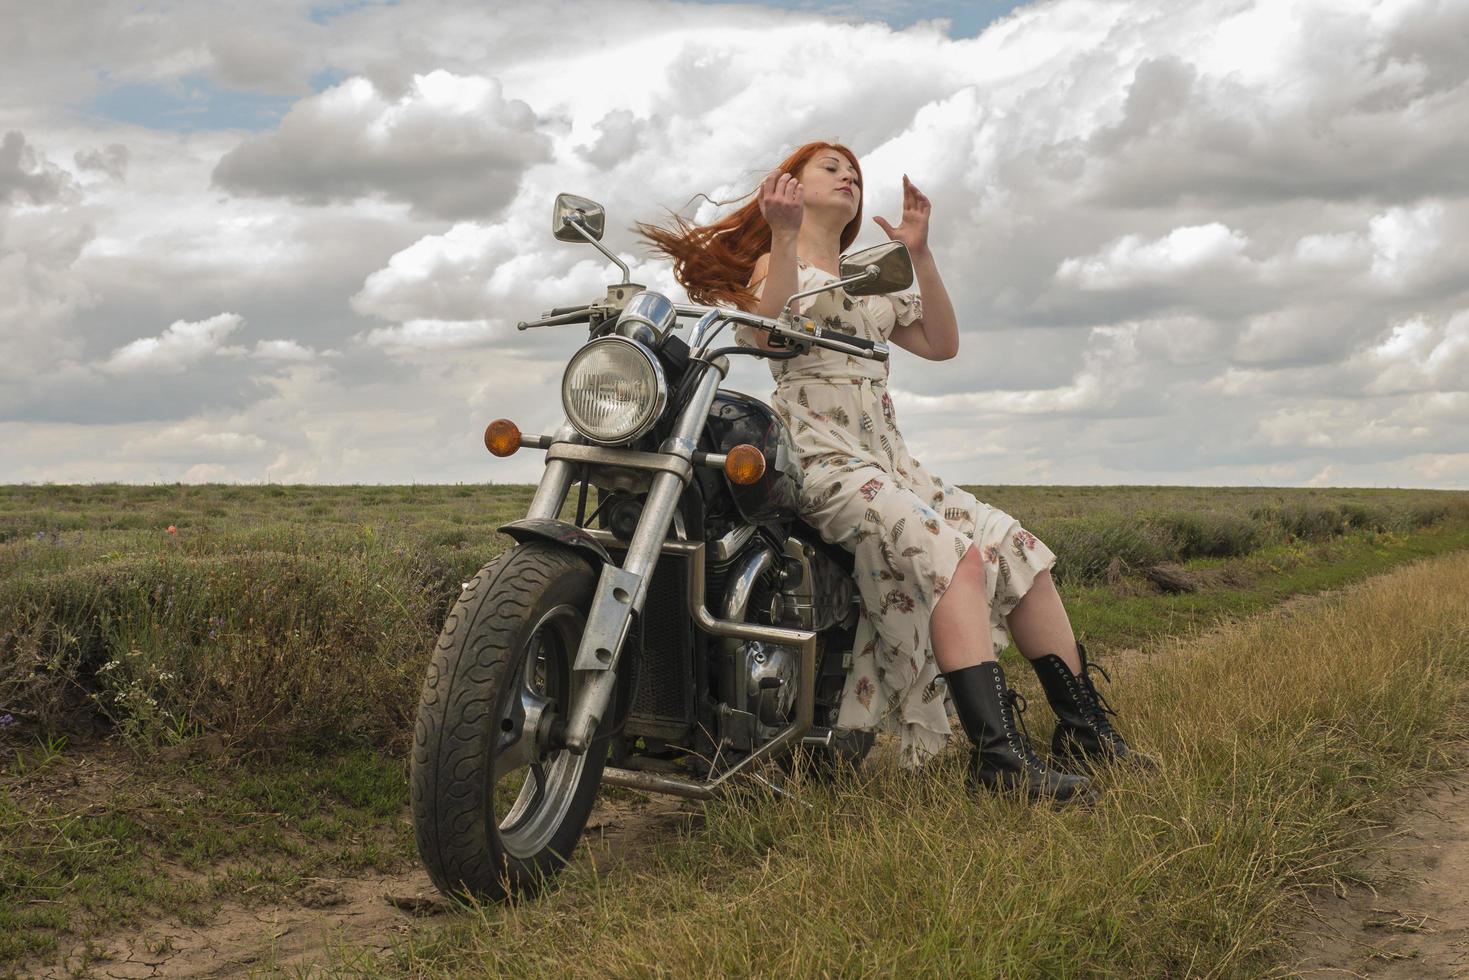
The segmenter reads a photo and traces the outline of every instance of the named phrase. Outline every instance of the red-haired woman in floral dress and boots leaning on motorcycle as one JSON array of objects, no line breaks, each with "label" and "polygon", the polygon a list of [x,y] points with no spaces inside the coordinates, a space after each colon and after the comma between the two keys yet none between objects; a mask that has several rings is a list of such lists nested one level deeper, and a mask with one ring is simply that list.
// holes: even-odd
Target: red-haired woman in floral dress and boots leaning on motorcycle
[{"label": "red-haired woman in floral dress and boots leaning on motorcycle", "polygon": [[[903,176],[903,216],[918,295],[809,297],[801,313],[826,329],[890,341],[928,360],[959,350],[953,306],[928,250],[928,198]],[[862,220],[862,172],[846,147],[808,143],[733,215],[643,234],[674,260],[695,303],[734,304],[774,317],[786,300],[837,279],[840,253]],[[920,298],[921,297],[921,298]],[[737,334],[746,347],[767,335]],[[1050,580],[1055,555],[1003,511],[931,476],[903,445],[887,395],[887,364],[812,348],[771,360],[771,404],[790,428],[805,472],[802,517],[855,554],[862,616],[837,726],[887,727],[900,760],[918,765],[949,736],[943,691],[974,743],[972,783],[1022,788],[1031,798],[1086,796],[1097,763],[1152,763],[1109,724],[1086,651]],[[1044,765],[1018,730],[1017,695],[996,655],[1014,638],[1040,674],[1059,724]],[[940,677],[946,683],[940,683]]]}]

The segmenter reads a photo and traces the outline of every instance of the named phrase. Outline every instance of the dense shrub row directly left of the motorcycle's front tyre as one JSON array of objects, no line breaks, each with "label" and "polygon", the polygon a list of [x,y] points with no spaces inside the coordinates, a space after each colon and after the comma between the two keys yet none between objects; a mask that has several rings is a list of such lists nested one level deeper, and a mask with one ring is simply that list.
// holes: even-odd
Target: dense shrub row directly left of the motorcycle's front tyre
[{"label": "dense shrub row directly left of the motorcycle's front tyre", "polygon": [[129,736],[401,738],[447,602],[422,557],[162,554],[0,588],[0,693],[41,718],[94,705]]}]

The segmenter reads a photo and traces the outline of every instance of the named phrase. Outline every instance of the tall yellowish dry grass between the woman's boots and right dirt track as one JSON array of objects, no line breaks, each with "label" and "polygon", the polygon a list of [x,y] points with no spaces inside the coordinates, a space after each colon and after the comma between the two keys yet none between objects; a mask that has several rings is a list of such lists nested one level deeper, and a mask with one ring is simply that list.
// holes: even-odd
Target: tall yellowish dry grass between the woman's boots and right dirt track
[{"label": "tall yellowish dry grass between the woman's boots and right dirt track", "polygon": [[1469,555],[1118,667],[1108,695],[1165,768],[1105,777],[1091,810],[974,798],[958,749],[915,776],[870,764],[793,799],[710,805],[648,867],[583,861],[545,898],[463,915],[373,968],[1260,976],[1288,962],[1307,889],[1350,879],[1363,830],[1462,739]]}]

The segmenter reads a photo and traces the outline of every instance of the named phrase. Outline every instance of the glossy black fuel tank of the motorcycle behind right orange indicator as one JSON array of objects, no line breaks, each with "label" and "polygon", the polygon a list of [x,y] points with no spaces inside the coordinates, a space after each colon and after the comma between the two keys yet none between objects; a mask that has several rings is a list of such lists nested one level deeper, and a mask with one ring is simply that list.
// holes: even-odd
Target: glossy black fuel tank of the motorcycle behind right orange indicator
[{"label": "glossy black fuel tank of the motorcycle behind right orange indicator", "polygon": [[710,406],[710,448],[727,453],[748,442],[765,454],[765,475],[749,486],[723,478],[740,517],[752,525],[784,525],[796,517],[801,501],[801,461],[790,432],[759,398],[721,389]]}]

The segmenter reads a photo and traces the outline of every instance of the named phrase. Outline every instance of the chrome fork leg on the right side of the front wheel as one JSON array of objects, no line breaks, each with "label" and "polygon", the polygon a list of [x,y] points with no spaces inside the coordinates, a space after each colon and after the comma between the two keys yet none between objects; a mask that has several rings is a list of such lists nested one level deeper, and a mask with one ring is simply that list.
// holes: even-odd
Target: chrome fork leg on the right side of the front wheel
[{"label": "chrome fork leg on the right side of the front wheel", "polygon": [[[724,370],[723,363],[705,369],[699,386],[679,417],[679,425],[663,444],[663,453],[692,460],[699,433],[708,422],[710,406],[714,404],[714,395],[724,379]],[[602,566],[586,632],[576,654],[576,670],[586,671],[585,683],[571,704],[566,726],[566,746],[576,754],[588,749],[607,714],[613,686],[617,683],[617,661],[621,657],[623,641],[627,639],[627,627],[633,613],[640,611],[648,598],[648,583],[652,580],[652,570],[658,563],[682,492],[683,479],[679,475],[667,472],[655,475],[642,517],[638,520],[638,530],[627,542],[623,566],[620,569],[613,564]]]}]

